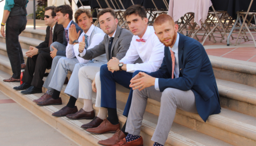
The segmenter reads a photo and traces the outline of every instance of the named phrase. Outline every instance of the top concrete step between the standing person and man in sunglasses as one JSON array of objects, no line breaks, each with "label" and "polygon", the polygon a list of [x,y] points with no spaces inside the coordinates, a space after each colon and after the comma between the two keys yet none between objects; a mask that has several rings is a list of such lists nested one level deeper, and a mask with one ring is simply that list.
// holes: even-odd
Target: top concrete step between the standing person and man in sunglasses
[{"label": "top concrete step between the standing person and man in sunglasses", "polygon": [[38,40],[45,40],[46,31],[45,30],[34,30],[33,28],[26,28],[20,36],[25,36],[29,38],[34,38]]}]

